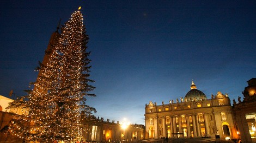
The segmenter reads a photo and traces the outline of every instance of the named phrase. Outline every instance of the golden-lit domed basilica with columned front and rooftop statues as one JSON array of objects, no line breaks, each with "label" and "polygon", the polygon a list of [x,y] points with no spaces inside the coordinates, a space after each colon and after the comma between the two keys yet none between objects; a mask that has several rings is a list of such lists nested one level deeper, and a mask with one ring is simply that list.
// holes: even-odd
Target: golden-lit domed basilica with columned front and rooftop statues
[{"label": "golden-lit domed basilica with columned front and rooftop statues", "polygon": [[222,140],[237,138],[232,107],[227,94],[218,92],[206,99],[192,81],[185,98],[145,106],[145,139],[162,137],[215,137]]}]

